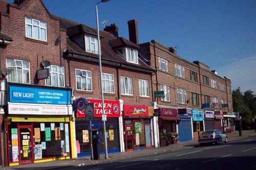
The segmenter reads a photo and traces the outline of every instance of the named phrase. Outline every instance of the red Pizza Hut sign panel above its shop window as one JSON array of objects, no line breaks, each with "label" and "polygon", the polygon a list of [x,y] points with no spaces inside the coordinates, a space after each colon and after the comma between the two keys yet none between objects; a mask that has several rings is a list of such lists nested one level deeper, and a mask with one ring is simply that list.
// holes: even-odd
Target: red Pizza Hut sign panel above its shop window
[{"label": "red Pizza Hut sign panel above its shop window", "polygon": [[137,105],[124,105],[123,112],[125,117],[146,118],[153,117],[153,108],[149,109],[148,106]]}]

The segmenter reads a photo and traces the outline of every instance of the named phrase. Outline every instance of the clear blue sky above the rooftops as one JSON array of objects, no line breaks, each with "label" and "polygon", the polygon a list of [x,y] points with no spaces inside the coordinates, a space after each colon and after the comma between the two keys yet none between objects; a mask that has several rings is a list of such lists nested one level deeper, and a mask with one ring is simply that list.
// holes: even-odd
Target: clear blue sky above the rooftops
[{"label": "clear blue sky above the rooftops", "polygon": [[[8,0],[13,2],[13,0]],[[49,12],[96,28],[100,0],[42,0]],[[111,0],[98,5],[99,29],[116,23],[129,39],[127,21],[138,21],[139,43],[156,40],[231,79],[232,90],[256,94],[255,0]]]}]

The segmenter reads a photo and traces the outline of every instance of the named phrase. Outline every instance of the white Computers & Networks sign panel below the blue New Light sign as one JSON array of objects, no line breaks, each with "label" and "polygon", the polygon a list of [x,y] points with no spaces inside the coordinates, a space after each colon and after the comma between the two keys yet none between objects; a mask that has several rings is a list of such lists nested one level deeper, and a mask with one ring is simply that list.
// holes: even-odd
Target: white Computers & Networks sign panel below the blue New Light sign
[{"label": "white Computers & Networks sign panel below the blue New Light sign", "polygon": [[72,115],[72,106],[8,103],[9,114]]}]

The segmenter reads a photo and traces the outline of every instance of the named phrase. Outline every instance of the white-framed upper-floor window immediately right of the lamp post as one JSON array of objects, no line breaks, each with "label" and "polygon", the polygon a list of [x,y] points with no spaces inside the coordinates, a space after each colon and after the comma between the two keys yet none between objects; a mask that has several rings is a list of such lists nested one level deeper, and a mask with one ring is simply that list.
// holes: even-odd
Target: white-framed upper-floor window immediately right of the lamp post
[{"label": "white-framed upper-floor window immediately right of the lamp post", "polygon": [[[103,92],[115,93],[114,75],[102,73],[101,76],[102,76]],[[113,78],[112,80],[111,80],[111,77]],[[108,87],[108,88],[106,88],[106,87]]]}]

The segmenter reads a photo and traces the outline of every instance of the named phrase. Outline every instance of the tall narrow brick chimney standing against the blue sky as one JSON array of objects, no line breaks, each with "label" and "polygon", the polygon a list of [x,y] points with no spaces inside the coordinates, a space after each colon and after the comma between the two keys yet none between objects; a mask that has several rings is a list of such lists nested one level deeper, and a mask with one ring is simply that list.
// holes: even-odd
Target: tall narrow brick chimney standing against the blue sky
[{"label": "tall narrow brick chimney standing against the blue sky", "polygon": [[139,44],[138,21],[133,19],[127,22],[129,28],[130,41]]}]

